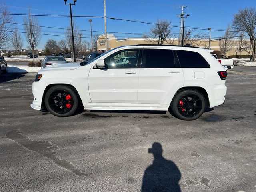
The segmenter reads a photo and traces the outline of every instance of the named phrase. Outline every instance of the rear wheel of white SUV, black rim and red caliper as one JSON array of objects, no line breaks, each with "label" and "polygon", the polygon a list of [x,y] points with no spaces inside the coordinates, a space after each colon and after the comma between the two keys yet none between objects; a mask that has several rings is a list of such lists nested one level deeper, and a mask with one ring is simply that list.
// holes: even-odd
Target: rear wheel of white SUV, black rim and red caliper
[{"label": "rear wheel of white SUV, black rim and red caliper", "polygon": [[206,100],[198,90],[188,89],[176,93],[169,111],[175,117],[191,121],[199,118],[205,111]]}]

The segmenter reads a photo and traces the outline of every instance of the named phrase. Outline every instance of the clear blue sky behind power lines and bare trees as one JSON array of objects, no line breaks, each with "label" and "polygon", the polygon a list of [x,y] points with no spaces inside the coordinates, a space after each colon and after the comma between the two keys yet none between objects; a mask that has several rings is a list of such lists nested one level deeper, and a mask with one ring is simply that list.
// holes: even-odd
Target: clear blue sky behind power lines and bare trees
[{"label": "clear blue sky behind power lines and bare trees", "polygon": [[[67,3],[73,3],[73,0],[67,0]],[[32,14],[50,14],[50,15],[70,15],[69,5],[64,4],[64,0],[0,0],[5,4],[10,13],[28,13],[29,8]],[[185,21],[185,26],[194,28],[212,28],[212,38],[218,38],[224,34],[223,31],[214,31],[214,29],[225,30],[228,24],[232,24],[234,14],[239,9],[245,7],[256,7],[255,0],[106,0],[106,16],[111,18],[121,18],[127,20],[136,20],[143,22],[156,23],[157,19],[170,20],[172,25],[180,26],[179,14],[180,7],[187,6],[184,12],[190,14]],[[82,32],[83,40],[90,42],[90,22],[92,19],[92,32],[94,34],[104,34],[104,18],[93,18],[92,16],[104,16],[103,0],[77,0],[76,6],[72,6],[73,16],[88,16],[88,18],[74,18]],[[23,24],[24,16],[13,16],[16,23]],[[67,28],[69,25],[68,17],[45,17],[38,16],[41,26]],[[152,24],[142,24],[121,20],[107,19],[107,31],[114,34],[117,39],[142,37],[141,34],[150,32]],[[16,24],[20,32],[24,32],[23,25]],[[172,27],[173,33],[179,33],[179,27]],[[118,34],[138,33],[134,34]],[[209,30],[197,30],[194,34],[200,32],[207,38]],[[42,28],[42,34],[64,35],[62,29]],[[28,46],[24,40],[24,48]],[[48,39],[61,40],[64,37],[42,35],[38,49],[44,49]]]}]

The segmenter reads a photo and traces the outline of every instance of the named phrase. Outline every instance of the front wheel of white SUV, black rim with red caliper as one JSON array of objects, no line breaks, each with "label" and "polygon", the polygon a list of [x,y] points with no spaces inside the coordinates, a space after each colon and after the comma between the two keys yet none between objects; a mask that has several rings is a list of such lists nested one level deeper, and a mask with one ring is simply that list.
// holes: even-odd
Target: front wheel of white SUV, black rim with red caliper
[{"label": "front wheel of white SUV, black rim with red caliper", "polygon": [[78,103],[76,90],[64,85],[51,87],[44,97],[46,109],[58,117],[72,116],[78,108]]}]

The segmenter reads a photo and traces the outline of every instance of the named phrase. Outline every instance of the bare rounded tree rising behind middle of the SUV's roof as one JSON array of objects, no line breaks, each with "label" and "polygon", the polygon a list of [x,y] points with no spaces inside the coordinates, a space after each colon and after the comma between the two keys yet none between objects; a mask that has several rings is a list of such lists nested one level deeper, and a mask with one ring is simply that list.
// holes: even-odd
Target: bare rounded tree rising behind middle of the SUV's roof
[{"label": "bare rounded tree rising behind middle of the SUV's roof", "polygon": [[170,24],[171,21],[158,19],[156,25],[150,30],[150,34],[144,34],[143,38],[158,45],[164,44],[172,32]]}]

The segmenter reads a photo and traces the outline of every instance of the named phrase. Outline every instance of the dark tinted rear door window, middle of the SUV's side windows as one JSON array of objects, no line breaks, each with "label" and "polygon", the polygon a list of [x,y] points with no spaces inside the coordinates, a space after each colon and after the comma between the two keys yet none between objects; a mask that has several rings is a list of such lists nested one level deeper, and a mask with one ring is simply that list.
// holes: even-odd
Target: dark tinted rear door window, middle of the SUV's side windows
[{"label": "dark tinted rear door window, middle of the SUV's side windows", "polygon": [[168,49],[146,49],[142,68],[174,68],[174,54]]}]

